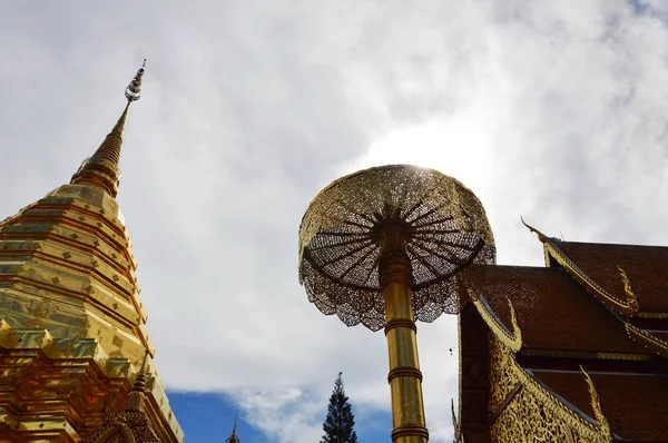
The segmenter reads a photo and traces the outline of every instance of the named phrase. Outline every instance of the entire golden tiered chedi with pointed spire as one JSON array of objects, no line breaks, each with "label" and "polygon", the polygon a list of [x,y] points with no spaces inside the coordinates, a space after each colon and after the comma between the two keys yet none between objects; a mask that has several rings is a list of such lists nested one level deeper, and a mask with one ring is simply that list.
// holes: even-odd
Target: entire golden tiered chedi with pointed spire
[{"label": "entire golden tiered chedi with pointed spire", "polygon": [[[144,67],[118,122],[71,181],[0,223],[0,441],[86,439],[122,406],[154,354],[115,199],[143,75]],[[157,436],[184,441],[157,375],[146,384]]]}]

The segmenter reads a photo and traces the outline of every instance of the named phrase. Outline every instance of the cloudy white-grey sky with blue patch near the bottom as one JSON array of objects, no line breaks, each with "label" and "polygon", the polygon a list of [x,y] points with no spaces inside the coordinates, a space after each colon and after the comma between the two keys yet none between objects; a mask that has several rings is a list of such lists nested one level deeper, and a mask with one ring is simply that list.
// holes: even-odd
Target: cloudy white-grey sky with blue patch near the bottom
[{"label": "cloudy white-grey sky with blue patch near the bottom", "polygon": [[[148,59],[118,199],[189,442],[223,441],[237,412],[245,443],[317,441],[340,371],[363,441],[389,440],[383,334],[297,283],[301,217],[343,174],[456,177],[502,264],[542,264],[520,215],[668,244],[668,1],[4,1],[0,53],[2,218],[69,180]],[[445,442],[455,318],[419,328]]]}]

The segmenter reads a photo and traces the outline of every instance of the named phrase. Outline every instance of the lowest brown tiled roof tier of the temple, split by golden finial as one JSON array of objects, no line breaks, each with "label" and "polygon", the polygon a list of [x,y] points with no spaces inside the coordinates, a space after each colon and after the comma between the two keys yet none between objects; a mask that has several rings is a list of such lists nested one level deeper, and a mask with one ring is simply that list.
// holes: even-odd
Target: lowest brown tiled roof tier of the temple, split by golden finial
[{"label": "lowest brown tiled roof tier of the temple, split by golden finial", "polygon": [[[581,372],[532,371],[552,392],[593,417]],[[668,376],[590,373],[603,415],[617,435],[630,441],[668,441]]]}]

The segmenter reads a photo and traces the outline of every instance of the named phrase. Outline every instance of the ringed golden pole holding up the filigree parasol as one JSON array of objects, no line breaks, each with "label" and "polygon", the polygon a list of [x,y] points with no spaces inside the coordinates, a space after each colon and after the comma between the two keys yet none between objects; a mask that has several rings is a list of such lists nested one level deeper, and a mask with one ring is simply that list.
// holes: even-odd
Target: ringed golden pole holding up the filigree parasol
[{"label": "ringed golden pole holding up the filigree parasol", "polygon": [[401,226],[383,228],[380,279],[385,297],[385,336],[392,395],[392,441],[426,443],[415,319],[411,303],[411,265]]}]

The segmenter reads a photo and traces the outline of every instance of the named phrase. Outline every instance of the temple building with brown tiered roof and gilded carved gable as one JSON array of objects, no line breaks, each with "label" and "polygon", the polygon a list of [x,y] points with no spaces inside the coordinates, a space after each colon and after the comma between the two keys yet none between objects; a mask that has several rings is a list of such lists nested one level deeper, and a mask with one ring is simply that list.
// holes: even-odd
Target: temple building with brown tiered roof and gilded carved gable
[{"label": "temple building with brown tiered roof and gilded carved gable", "polygon": [[[455,432],[481,437],[488,404],[492,441],[666,441],[668,248],[567,243],[528,227],[547,267],[479,266],[462,308],[460,336],[478,338],[460,348]],[[481,352],[487,387],[475,384]]]}]

